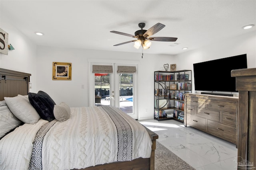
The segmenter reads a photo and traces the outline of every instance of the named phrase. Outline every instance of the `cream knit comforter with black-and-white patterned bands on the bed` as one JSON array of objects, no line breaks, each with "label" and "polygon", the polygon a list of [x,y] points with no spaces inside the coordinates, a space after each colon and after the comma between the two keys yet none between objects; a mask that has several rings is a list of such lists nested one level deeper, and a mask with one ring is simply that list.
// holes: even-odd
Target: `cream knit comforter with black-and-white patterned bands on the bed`
[{"label": "cream knit comforter with black-and-white patterned bands on the bed", "polygon": [[151,146],[146,129],[116,107],[71,107],[67,121],[40,119],[2,138],[0,169],[80,169],[149,158]]}]

